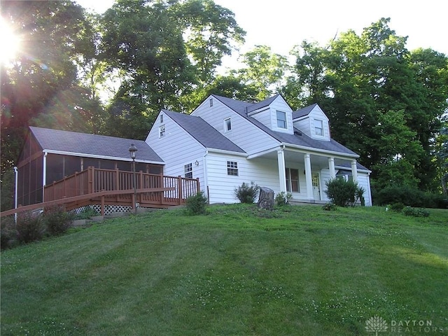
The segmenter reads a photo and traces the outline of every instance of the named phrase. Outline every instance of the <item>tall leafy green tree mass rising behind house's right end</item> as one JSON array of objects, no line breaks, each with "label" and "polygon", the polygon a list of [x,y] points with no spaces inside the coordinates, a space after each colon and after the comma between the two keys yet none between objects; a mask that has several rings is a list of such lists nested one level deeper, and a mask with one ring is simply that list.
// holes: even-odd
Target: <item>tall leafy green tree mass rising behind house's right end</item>
[{"label": "tall leafy green tree mass rising behind house's right end", "polygon": [[[288,80],[297,87],[287,92],[300,97],[309,91],[311,100],[304,94],[302,101],[316,99],[328,111],[332,137],[360,153],[378,186],[417,183],[431,189],[433,139],[447,108],[447,58],[432,50],[409,52],[407,38],[388,22],[382,18],[360,36],[349,30],[325,49],[302,43]],[[399,166],[407,179],[391,179]]]}]

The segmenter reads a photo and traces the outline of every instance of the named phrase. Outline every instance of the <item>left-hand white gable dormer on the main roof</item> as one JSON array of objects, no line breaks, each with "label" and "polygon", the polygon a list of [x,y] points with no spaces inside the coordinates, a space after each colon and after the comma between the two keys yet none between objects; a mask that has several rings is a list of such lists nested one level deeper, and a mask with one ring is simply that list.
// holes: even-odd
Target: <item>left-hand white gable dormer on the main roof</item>
[{"label": "left-hand white gable dormer on the main roof", "polygon": [[247,116],[270,130],[293,134],[293,110],[280,94],[247,107]]}]

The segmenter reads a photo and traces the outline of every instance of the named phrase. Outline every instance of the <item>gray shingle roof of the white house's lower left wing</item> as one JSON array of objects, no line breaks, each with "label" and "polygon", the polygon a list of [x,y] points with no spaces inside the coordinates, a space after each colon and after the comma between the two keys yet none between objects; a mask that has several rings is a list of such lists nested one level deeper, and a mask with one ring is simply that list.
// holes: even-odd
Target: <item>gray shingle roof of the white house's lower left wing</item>
[{"label": "gray shingle roof of the white house's lower left wing", "polygon": [[204,119],[189,114],[162,110],[169,118],[172,118],[179,126],[186,130],[192,137],[206,148],[214,148],[222,151],[245,153],[239,146],[223,136],[214,127],[211,127]]}]

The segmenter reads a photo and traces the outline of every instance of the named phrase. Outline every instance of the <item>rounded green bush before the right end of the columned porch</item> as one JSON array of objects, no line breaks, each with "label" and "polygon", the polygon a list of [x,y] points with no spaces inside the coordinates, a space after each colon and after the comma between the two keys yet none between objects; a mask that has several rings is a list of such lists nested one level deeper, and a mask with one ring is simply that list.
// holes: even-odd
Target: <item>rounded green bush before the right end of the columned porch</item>
[{"label": "rounded green bush before the right end of the columned porch", "polygon": [[325,193],[328,198],[338,207],[353,206],[358,200],[363,200],[364,189],[358,187],[358,183],[353,181],[336,178],[326,181],[325,186],[327,186]]}]

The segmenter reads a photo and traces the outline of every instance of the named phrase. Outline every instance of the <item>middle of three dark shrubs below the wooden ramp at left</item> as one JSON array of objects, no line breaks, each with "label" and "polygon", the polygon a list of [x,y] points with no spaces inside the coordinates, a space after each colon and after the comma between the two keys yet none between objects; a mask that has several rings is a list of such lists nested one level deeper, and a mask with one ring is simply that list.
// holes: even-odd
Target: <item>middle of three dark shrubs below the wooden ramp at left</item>
[{"label": "middle of three dark shrubs below the wooden ramp at left", "polygon": [[31,211],[18,214],[15,228],[18,241],[25,244],[42,239],[45,233],[42,217],[40,214]]}]

